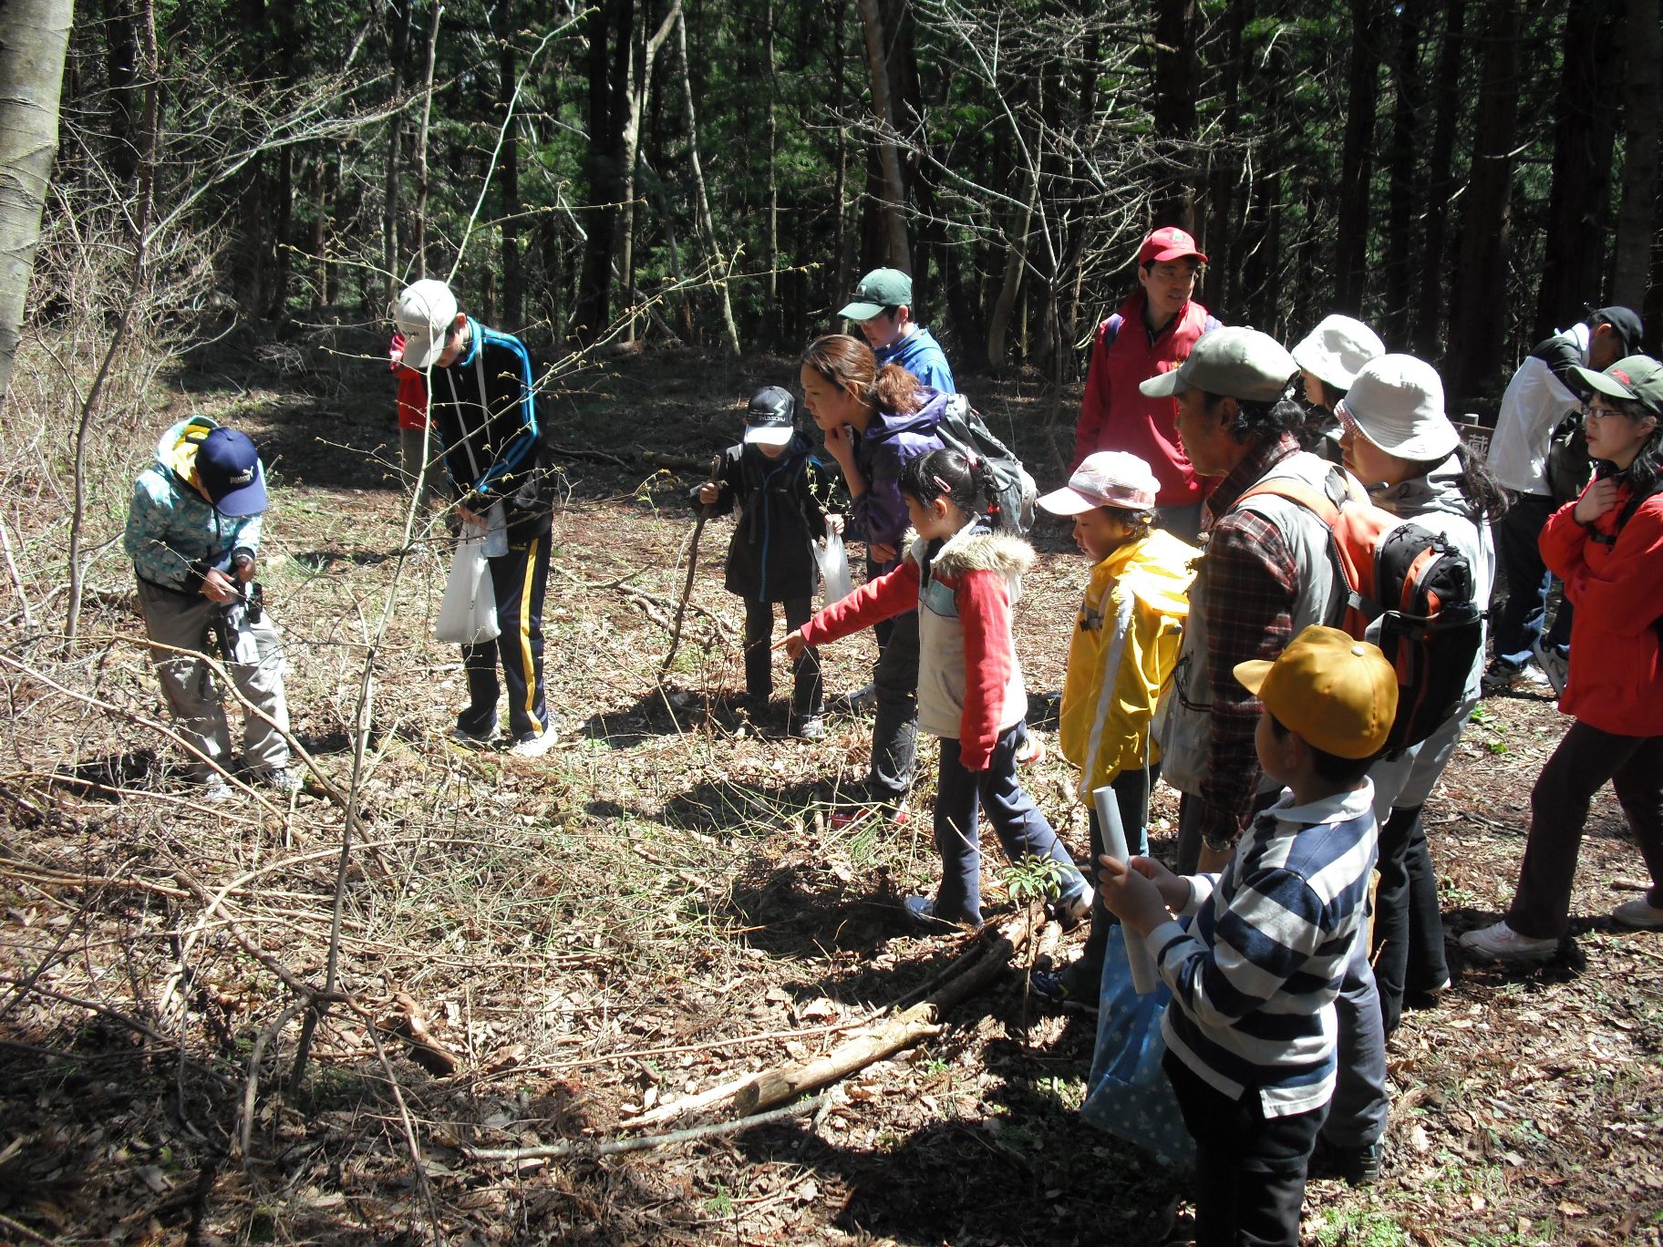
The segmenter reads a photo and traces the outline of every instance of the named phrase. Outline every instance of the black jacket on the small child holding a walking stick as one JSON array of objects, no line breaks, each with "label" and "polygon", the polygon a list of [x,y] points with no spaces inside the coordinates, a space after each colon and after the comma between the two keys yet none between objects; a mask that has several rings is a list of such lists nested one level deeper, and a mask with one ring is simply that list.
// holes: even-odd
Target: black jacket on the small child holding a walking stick
[{"label": "black jacket on the small child holding a walking stick", "polygon": [[712,515],[738,504],[728,542],[727,590],[752,602],[813,597],[820,564],[813,542],[825,535],[832,477],[815,459],[813,442],[792,437],[785,454],[768,459],[755,446],[730,446],[717,472],[720,495]]}]

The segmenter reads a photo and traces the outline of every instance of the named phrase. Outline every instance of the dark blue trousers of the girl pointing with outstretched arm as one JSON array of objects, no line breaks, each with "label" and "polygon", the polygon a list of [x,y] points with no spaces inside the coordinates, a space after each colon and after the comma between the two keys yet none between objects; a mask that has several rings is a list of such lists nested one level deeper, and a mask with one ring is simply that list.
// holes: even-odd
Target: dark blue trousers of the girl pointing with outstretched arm
[{"label": "dark blue trousers of the girl pointing with outstretched arm", "polygon": [[[891,642],[893,643],[893,642]],[[936,773],[935,836],[941,855],[941,888],[936,891],[936,916],[950,921],[981,923],[981,841],[978,815],[989,826],[1011,861],[1026,856],[1051,858],[1064,871],[1063,896],[1078,896],[1086,880],[1074,868],[1063,841],[1016,780],[1016,728],[999,735],[980,771],[965,770],[958,742],[941,738],[941,765]]]}]

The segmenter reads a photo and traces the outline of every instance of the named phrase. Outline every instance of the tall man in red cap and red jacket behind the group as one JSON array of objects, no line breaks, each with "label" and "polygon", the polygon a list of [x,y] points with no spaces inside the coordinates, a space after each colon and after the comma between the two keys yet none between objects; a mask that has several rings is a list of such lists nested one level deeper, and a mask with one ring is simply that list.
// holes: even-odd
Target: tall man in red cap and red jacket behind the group
[{"label": "tall man in red cap and red jacket behind the group", "polygon": [[1176,226],[1144,238],[1139,289],[1098,326],[1074,432],[1076,467],[1096,451],[1128,451],[1149,464],[1161,482],[1156,522],[1189,542],[1201,532],[1201,504],[1212,481],[1196,476],[1177,441],[1177,404],[1146,397],[1137,384],[1176,369],[1201,334],[1219,328],[1191,298],[1206,263],[1196,239]]}]

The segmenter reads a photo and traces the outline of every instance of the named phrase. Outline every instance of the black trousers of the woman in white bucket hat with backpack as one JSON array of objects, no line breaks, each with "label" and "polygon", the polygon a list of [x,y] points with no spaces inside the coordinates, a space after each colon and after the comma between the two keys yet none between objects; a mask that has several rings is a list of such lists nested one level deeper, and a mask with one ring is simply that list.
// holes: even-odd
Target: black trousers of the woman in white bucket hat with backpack
[{"label": "black trousers of the woman in white bucket hat with backpack", "polygon": [[1404,994],[1427,993],[1448,976],[1443,914],[1420,806],[1394,810],[1380,828],[1380,885],[1374,893],[1374,981],[1380,1023],[1390,1034],[1404,1018]]}]

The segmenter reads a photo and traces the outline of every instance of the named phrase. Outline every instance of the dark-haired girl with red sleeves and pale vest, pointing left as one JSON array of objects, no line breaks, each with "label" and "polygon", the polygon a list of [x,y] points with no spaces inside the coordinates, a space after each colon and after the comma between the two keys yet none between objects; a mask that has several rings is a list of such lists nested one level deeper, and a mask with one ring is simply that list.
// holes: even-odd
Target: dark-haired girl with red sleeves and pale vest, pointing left
[{"label": "dark-haired girl with red sleeves and pale vest, pointing left", "polygon": [[1091,908],[1091,888],[1033,798],[1016,780],[1018,728],[1028,692],[1011,642],[1011,604],[1033,564],[1028,542],[989,532],[991,472],[958,451],[931,451],[901,469],[901,499],[913,540],[900,567],[833,602],[782,645],[795,658],[880,620],[918,610],[918,727],[941,737],[935,838],[941,886],[933,898],[908,896],[921,924],[981,924],[978,808],[1013,861],[1058,863],[1059,919]]}]

